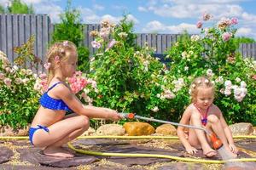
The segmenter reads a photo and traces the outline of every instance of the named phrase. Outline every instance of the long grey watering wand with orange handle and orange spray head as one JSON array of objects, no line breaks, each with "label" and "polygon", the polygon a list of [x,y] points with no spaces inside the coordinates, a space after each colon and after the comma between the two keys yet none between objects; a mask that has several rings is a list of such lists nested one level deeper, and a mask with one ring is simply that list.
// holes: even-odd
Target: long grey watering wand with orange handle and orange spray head
[{"label": "long grey watering wand with orange handle and orange spray head", "polygon": [[140,119],[140,120],[144,120],[144,121],[160,122],[160,123],[172,124],[172,125],[180,126],[180,127],[188,127],[188,128],[199,129],[199,130],[202,130],[202,131],[207,133],[207,135],[210,137],[210,139],[212,141],[212,147],[215,150],[218,150],[223,146],[221,140],[217,138],[215,133],[210,133],[209,131],[207,131],[206,128],[203,128],[203,127],[195,127],[195,126],[191,126],[191,125],[180,124],[180,123],[177,123],[177,122],[162,121],[162,120],[159,120],[159,119],[137,116],[135,113],[119,113],[119,115],[121,117],[127,118],[127,119]]}]

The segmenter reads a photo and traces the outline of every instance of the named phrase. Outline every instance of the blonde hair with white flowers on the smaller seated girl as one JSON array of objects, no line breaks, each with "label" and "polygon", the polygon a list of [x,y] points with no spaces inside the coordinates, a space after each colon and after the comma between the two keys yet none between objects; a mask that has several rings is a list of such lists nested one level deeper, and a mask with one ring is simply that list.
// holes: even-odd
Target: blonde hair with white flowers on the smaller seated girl
[{"label": "blonde hair with white flowers on the smaller seated girl", "polygon": [[191,83],[189,91],[191,95],[191,101],[196,102],[196,96],[198,94],[198,88],[212,88],[213,98],[214,98],[214,85],[207,77],[197,77]]}]

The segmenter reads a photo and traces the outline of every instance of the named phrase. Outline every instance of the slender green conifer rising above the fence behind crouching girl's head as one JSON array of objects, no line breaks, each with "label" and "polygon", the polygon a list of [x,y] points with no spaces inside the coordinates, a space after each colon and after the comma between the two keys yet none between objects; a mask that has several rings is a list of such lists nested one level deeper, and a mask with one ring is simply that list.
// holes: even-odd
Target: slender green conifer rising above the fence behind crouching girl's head
[{"label": "slender green conifer rising above the fence behind crouching girl's head", "polygon": [[81,24],[79,10],[71,7],[71,0],[67,1],[67,8],[61,14],[61,23],[55,25],[52,42],[69,40],[76,44],[79,53],[79,70],[88,71],[89,69],[89,49],[83,46],[84,26]]}]

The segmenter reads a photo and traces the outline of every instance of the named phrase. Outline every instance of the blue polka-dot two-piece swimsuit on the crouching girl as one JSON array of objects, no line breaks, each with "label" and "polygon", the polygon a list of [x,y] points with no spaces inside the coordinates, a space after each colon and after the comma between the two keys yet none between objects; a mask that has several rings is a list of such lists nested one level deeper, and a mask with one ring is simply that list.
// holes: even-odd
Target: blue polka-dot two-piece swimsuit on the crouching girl
[{"label": "blue polka-dot two-piece swimsuit on the crouching girl", "polygon": [[[54,85],[52,85],[40,98],[39,102],[40,105],[42,105],[44,108],[47,109],[51,109],[51,110],[56,110],[56,111],[72,111],[65,103],[62,99],[53,99],[51,97],[49,97],[48,92],[49,90],[51,90],[52,88],[55,88],[55,86],[57,84],[60,84],[63,82],[56,82]],[[49,133],[49,128],[42,126],[42,125],[38,125],[38,127],[30,127],[29,128],[29,140],[31,142],[31,144],[33,144],[32,142],[32,138],[33,138],[33,134],[38,130],[38,129],[43,129],[45,132]]]}]

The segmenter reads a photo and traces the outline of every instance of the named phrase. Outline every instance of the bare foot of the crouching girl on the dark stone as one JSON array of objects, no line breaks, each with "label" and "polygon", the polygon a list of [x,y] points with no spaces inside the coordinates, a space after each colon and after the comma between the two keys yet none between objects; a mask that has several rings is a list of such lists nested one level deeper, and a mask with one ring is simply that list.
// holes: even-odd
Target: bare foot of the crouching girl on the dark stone
[{"label": "bare foot of the crouching girl on the dark stone", "polygon": [[66,158],[73,157],[73,154],[69,153],[67,150],[64,150],[61,147],[55,147],[55,146],[46,147],[43,150],[43,153],[46,156],[66,157]]}]

